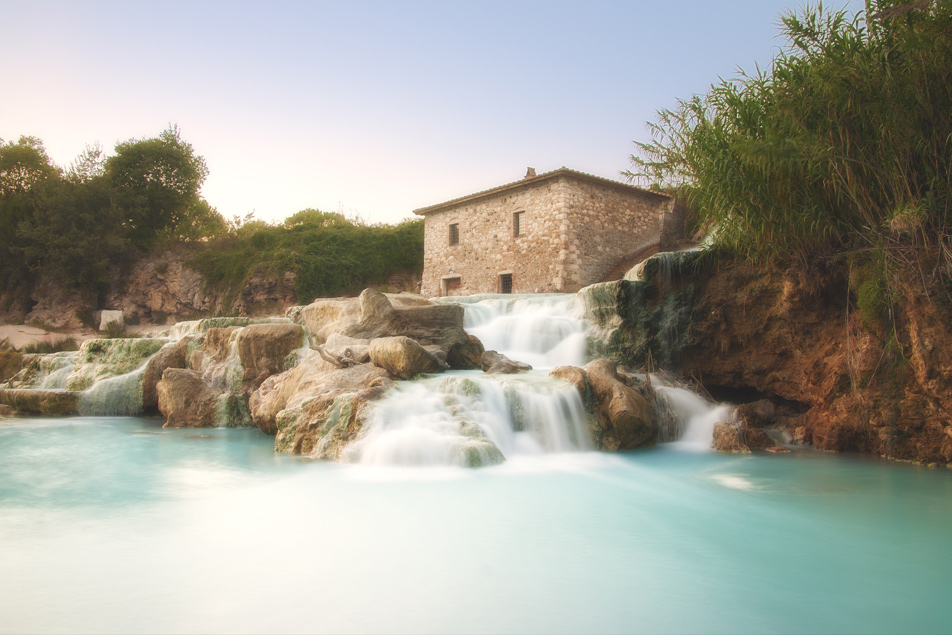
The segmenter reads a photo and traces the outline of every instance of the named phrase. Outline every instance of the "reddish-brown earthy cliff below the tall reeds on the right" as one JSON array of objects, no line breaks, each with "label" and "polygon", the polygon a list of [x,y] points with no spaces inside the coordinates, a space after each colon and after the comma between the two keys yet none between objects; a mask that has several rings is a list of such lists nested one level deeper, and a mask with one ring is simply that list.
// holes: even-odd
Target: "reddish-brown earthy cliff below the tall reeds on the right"
[{"label": "reddish-brown earthy cliff below the tall reeds on the right", "polygon": [[696,377],[719,399],[769,399],[795,442],[952,461],[952,306],[920,279],[894,281],[889,324],[858,310],[845,266],[685,263],[584,290],[596,350]]}]

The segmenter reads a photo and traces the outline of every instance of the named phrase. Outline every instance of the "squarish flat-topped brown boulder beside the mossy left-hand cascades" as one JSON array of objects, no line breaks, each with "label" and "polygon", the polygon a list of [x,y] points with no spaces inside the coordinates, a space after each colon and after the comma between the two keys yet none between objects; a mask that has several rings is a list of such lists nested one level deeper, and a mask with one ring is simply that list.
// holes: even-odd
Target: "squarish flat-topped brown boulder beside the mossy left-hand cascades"
[{"label": "squarish flat-topped brown boulder beside the mossy left-hand cascades", "polygon": [[304,329],[288,323],[251,324],[238,333],[237,344],[242,381],[257,388],[266,378],[287,370],[288,356],[304,345]]}]

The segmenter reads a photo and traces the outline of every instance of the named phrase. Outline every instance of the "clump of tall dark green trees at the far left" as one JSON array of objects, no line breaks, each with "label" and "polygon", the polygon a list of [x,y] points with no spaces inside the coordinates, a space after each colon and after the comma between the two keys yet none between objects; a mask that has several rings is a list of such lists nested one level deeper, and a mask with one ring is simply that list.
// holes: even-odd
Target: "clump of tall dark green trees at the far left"
[{"label": "clump of tall dark green trees at the far left", "polygon": [[119,143],[109,157],[87,146],[66,170],[35,137],[0,140],[4,295],[29,291],[45,274],[95,304],[110,271],[154,245],[224,231],[224,219],[199,197],[207,174],[175,127]]}]

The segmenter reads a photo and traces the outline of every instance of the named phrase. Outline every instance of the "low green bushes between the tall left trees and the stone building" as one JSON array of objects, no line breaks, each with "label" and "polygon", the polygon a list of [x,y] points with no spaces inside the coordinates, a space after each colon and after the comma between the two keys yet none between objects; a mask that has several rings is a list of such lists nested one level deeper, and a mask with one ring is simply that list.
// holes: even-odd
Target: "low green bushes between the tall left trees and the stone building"
[{"label": "low green bushes between the tall left trees and the stone building", "polygon": [[306,209],[281,225],[238,224],[209,241],[189,263],[218,291],[238,293],[253,275],[294,276],[298,302],[383,284],[397,272],[423,269],[423,221],[367,225]]}]

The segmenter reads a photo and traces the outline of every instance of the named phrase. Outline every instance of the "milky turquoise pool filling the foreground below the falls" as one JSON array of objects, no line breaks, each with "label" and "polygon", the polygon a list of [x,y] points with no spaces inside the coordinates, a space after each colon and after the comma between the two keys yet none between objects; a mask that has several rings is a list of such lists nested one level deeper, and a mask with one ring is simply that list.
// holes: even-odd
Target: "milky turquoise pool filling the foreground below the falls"
[{"label": "milky turquoise pool filling the foreground below the falls", "polygon": [[661,448],[396,470],[0,423],[0,631],[952,630],[952,470]]}]

